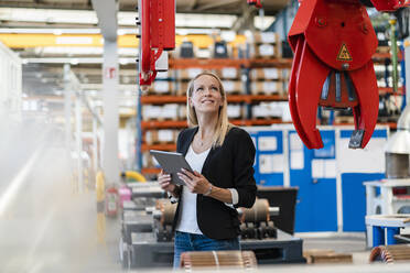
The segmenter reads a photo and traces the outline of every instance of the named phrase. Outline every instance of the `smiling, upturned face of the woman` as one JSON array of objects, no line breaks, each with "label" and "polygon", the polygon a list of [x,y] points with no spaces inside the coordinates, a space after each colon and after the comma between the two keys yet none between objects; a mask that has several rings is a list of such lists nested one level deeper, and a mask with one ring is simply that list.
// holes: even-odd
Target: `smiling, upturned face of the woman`
[{"label": "smiling, upturned face of the woman", "polygon": [[195,79],[190,103],[196,113],[218,111],[224,103],[218,80],[208,75]]}]

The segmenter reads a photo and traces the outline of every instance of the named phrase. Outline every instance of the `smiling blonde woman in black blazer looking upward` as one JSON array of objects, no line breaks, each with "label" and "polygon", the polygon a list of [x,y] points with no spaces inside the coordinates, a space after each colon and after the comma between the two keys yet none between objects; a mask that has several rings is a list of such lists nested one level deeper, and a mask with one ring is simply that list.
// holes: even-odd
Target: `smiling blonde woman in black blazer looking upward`
[{"label": "smiling blonde woman in black blazer looking upward", "polygon": [[236,207],[250,208],[256,198],[255,146],[249,134],[228,122],[227,100],[220,79],[201,73],[187,90],[188,129],[176,150],[194,171],[181,170],[186,186],[171,184],[162,171],[161,187],[177,198],[174,267],[185,251],[239,250]]}]

